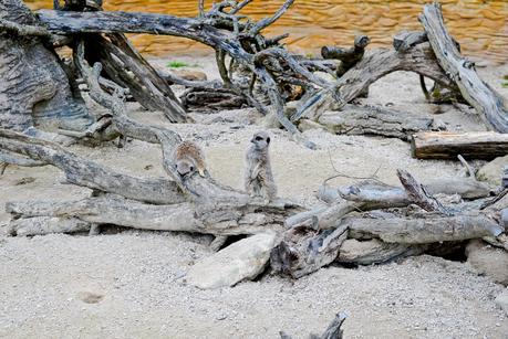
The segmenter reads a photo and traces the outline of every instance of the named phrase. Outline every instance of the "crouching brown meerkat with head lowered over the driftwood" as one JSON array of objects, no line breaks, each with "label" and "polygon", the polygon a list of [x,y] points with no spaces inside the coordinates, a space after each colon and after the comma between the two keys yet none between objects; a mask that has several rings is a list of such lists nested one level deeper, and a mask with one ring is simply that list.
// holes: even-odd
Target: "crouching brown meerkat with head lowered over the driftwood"
[{"label": "crouching brown meerkat with head lowered over the driftwood", "polygon": [[183,141],[175,150],[176,171],[180,176],[198,171],[205,177],[206,162],[203,149],[193,141]]}]

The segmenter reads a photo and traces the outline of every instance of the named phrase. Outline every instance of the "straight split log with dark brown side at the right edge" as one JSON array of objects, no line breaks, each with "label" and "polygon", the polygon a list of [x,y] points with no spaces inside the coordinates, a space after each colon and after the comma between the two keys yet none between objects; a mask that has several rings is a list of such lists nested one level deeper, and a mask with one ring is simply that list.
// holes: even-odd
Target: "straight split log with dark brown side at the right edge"
[{"label": "straight split log with dark brown side at the right edge", "polygon": [[423,131],[411,140],[413,157],[418,159],[494,159],[508,153],[508,134],[495,131]]}]

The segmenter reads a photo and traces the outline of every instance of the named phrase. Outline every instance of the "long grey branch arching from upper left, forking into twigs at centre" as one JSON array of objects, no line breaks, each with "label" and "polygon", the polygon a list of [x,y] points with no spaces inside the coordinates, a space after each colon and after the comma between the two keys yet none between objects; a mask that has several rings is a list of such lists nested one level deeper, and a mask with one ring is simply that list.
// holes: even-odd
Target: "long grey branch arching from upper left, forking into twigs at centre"
[{"label": "long grey branch arching from upper left, forking into twigs at centre", "polygon": [[[281,10],[278,11],[273,18],[278,18],[289,7],[288,3],[292,1],[288,0]],[[216,10],[211,10],[210,14],[207,14],[206,18],[210,17],[211,22],[214,23],[216,18],[212,18],[211,13],[217,13]],[[315,145],[307,140],[298,128],[286,117],[283,114],[283,100],[281,94],[279,93],[279,83],[272,75],[272,72],[267,70],[267,65],[279,64],[277,59],[283,57],[284,62],[292,66],[294,70],[300,70],[302,76],[305,76],[308,81],[319,81],[311,72],[307,71],[301,66],[293,56],[284,51],[272,50],[272,51],[258,51],[253,46],[258,45],[261,42],[261,45],[265,45],[266,39],[259,33],[258,30],[249,30],[248,35],[245,39],[255,34],[255,36],[249,38],[252,40],[252,44],[249,41],[240,42],[238,39],[235,39],[238,32],[228,30],[222,30],[209,24],[206,19],[196,18],[177,18],[172,15],[163,14],[148,14],[148,13],[126,13],[126,12],[62,12],[62,11],[50,11],[41,10],[38,11],[39,19],[44,23],[48,30],[52,33],[59,34],[75,34],[75,33],[152,33],[152,34],[167,34],[175,36],[184,36],[191,39],[209,46],[212,46],[217,53],[220,55],[229,54],[236,62],[245,64],[248,66],[251,73],[255,74],[256,78],[262,84],[263,88],[267,91],[268,96],[271,102],[271,108],[263,106],[256,98],[247,93],[239,84],[230,82],[227,78],[227,72],[224,72],[224,66],[219,63],[219,71],[221,71],[222,80],[225,84],[228,85],[231,83],[230,88],[239,95],[243,95],[249,104],[255,105],[256,108],[260,109],[263,114],[269,113],[270,110],[277,116],[281,125],[291,133],[294,139],[305,147],[315,148]],[[224,15],[221,15],[224,17]],[[229,17],[228,17],[229,18]],[[222,18],[224,19],[224,18]],[[231,20],[231,18],[229,18]],[[205,21],[204,21],[205,20]],[[226,20],[228,21],[228,20]],[[217,22],[215,22],[217,23]],[[220,24],[217,23],[217,27],[221,27],[224,20],[220,21]],[[231,22],[235,23],[235,20]],[[271,23],[271,20],[265,22]],[[263,24],[265,24],[263,23]],[[261,24],[261,25],[263,25]],[[241,25],[237,22],[234,24],[237,29]],[[237,34],[235,34],[235,32]],[[247,32],[246,32],[247,33]],[[258,53],[263,52],[265,54]],[[281,55],[280,53],[283,55]],[[270,59],[270,62],[261,63],[257,60],[259,59]],[[290,75],[294,71],[291,70]]]}]

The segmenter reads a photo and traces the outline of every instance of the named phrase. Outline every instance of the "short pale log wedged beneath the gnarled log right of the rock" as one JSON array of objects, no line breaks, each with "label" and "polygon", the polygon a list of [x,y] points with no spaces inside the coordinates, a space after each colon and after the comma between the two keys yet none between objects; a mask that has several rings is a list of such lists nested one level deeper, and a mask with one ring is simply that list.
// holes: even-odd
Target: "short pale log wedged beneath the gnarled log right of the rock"
[{"label": "short pale log wedged beneath the gnarled log right of the rock", "polygon": [[382,264],[423,254],[427,247],[426,245],[385,243],[377,239],[367,241],[348,239],[342,243],[335,263],[353,265]]}]

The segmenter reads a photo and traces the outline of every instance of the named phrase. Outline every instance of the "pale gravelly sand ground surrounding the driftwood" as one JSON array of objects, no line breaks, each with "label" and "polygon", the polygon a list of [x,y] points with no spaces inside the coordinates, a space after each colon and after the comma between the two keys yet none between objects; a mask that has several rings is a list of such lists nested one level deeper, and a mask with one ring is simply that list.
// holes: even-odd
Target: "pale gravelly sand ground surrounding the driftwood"
[{"label": "pale gravelly sand ground surrounding the driftwood", "polygon": [[[216,76],[209,59],[187,61]],[[508,65],[480,73],[508,98],[508,89],[500,86]],[[403,72],[375,83],[365,103],[393,104],[393,109],[422,116],[435,110],[424,102],[417,76]],[[136,104],[129,108],[142,121],[164,125],[199,142],[211,174],[241,187],[243,151],[260,129],[252,124],[259,119],[253,110],[201,115],[196,116],[197,124],[172,125]],[[483,129],[470,109],[444,106],[443,110],[433,117],[450,130]],[[310,130],[307,137],[320,147],[312,151],[291,141],[283,130],[270,134],[280,194],[309,205],[318,203],[315,191],[335,169],[355,177],[377,170],[377,177],[390,183],[396,183],[397,168],[418,179],[457,176],[462,170],[456,161],[412,159],[408,144],[398,139]],[[123,149],[105,145],[72,150],[125,173],[164,176],[160,150],[154,145],[132,141]],[[62,181],[62,173],[51,167],[9,167],[0,177],[0,205],[90,194]],[[0,234],[8,221],[9,215],[0,211]],[[31,239],[0,235],[0,337],[277,338],[284,330],[303,338],[310,331],[321,332],[335,312],[344,310],[346,338],[508,338],[508,317],[494,304],[504,287],[465,263],[421,256],[357,269],[331,266],[297,282],[267,274],[234,288],[199,290],[185,285],[185,273],[210,255],[210,240],[138,231]],[[99,303],[84,303],[90,294]]]}]

